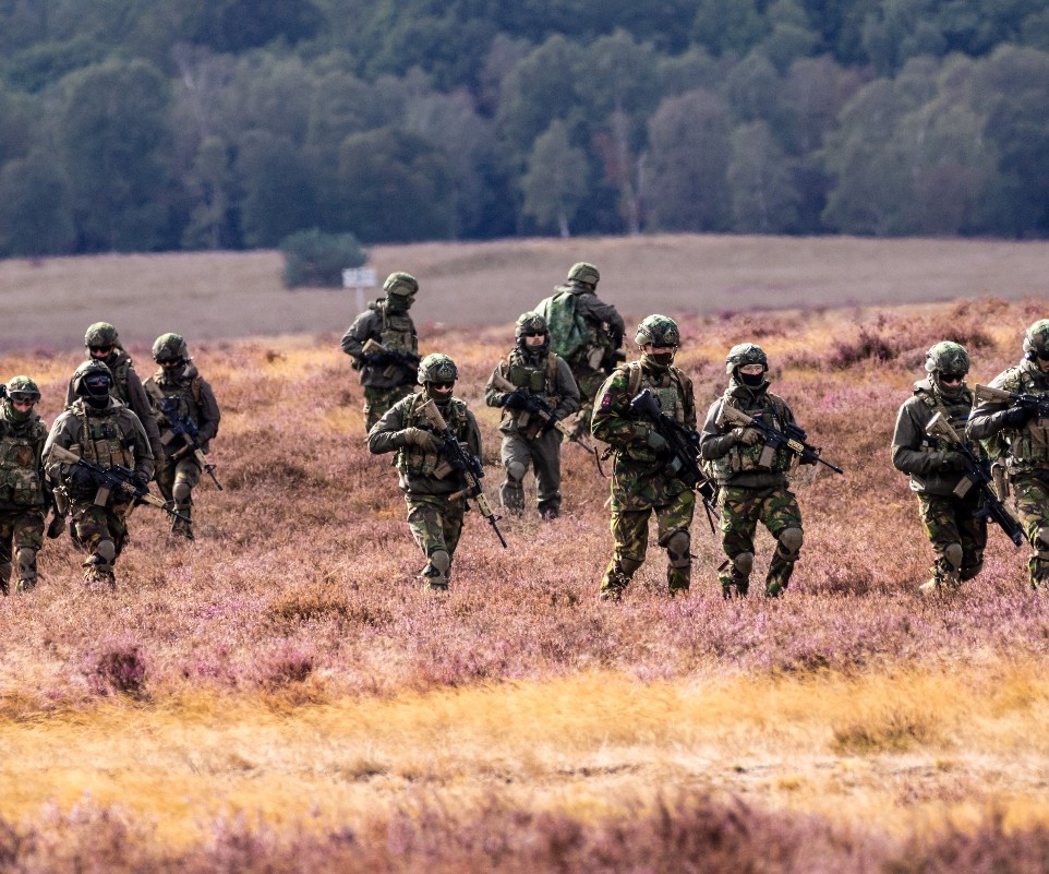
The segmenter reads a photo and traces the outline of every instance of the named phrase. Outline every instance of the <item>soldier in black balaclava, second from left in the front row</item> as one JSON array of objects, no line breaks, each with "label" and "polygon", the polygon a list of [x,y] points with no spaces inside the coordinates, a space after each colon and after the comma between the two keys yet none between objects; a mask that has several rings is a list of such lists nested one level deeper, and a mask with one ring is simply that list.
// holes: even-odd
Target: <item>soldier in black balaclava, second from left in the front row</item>
[{"label": "soldier in black balaclava, second from left in the front row", "polygon": [[106,364],[85,361],[73,373],[72,385],[76,400],[51,426],[44,445],[45,469],[69,500],[73,542],[88,553],[84,582],[116,588],[113,564],[128,538],[134,499],[112,490],[105,505],[97,505],[98,487],[89,471],[50,454],[53,446],[61,446],[99,467],[123,465],[134,470],[135,484],[145,488],[153,477],[153,452],[138,417],[110,395],[113,376]]}]

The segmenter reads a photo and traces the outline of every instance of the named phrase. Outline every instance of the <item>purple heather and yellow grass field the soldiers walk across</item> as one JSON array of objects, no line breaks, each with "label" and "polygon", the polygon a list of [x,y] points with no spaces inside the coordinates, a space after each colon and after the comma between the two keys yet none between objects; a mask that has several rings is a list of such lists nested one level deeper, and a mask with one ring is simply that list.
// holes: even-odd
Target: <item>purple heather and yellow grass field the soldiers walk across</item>
[{"label": "purple heather and yellow grass field the soldiers walk across", "polygon": [[[700,517],[688,598],[653,548],[599,603],[607,484],[572,446],[565,515],[505,519],[503,550],[469,514],[451,591],[427,596],[338,334],[196,344],[226,486],[197,493],[198,541],[142,507],[114,594],[62,539],[0,602],[0,871],[1042,871],[1049,601],[997,529],[975,583],[923,600],[888,447],[929,345],[964,343],[987,381],[1044,299],[674,314],[701,408],[757,339],[846,468],[797,478],[784,598],[722,601]],[[510,335],[421,337],[460,364],[490,496],[483,383]],[[76,361],[0,373],[34,375],[50,421]]]}]

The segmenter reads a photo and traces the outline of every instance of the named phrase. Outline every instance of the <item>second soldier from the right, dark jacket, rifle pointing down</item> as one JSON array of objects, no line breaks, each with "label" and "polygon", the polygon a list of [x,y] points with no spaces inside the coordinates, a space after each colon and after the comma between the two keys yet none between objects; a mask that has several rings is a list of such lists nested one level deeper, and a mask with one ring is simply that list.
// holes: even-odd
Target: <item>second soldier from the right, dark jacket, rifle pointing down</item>
[{"label": "second soldier from the right, dark jacket, rifle pointing down", "polygon": [[[938,343],[926,352],[925,369],[929,375],[914,384],[914,394],[896,416],[892,463],[911,475],[911,489],[917,494],[918,513],[936,554],[932,577],[918,587],[929,595],[957,589],[979,574],[987,546],[987,517],[976,516],[979,489],[969,489],[964,498],[954,493],[964,476],[965,457],[942,439],[926,433],[926,426],[938,412],[955,431],[964,432],[973,409],[973,392],[965,384],[968,352],[956,343]],[[981,455],[976,441],[972,448]]]}]

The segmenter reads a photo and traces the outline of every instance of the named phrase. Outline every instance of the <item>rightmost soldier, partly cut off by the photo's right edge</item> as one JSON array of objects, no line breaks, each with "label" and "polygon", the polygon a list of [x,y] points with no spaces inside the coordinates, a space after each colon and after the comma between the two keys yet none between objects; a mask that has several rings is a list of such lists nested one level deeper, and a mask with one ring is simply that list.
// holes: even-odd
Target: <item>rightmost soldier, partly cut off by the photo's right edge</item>
[{"label": "rightmost soldier, partly cut off by the photo's right edge", "polygon": [[[990,387],[1049,398],[1049,319],[1027,328],[1023,351]],[[1049,417],[1033,405],[986,400],[973,410],[966,433],[1000,450],[1016,516],[1035,551],[1027,563],[1030,585],[1049,588]]]}]

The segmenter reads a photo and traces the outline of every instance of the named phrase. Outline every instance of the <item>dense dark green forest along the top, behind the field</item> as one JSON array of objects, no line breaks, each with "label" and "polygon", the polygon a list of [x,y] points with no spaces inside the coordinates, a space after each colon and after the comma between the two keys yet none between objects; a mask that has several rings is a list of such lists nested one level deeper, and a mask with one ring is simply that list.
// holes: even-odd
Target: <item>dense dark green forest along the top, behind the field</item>
[{"label": "dense dark green forest along the top, behind the field", "polygon": [[1044,238],[1049,0],[0,0],[0,256]]}]

